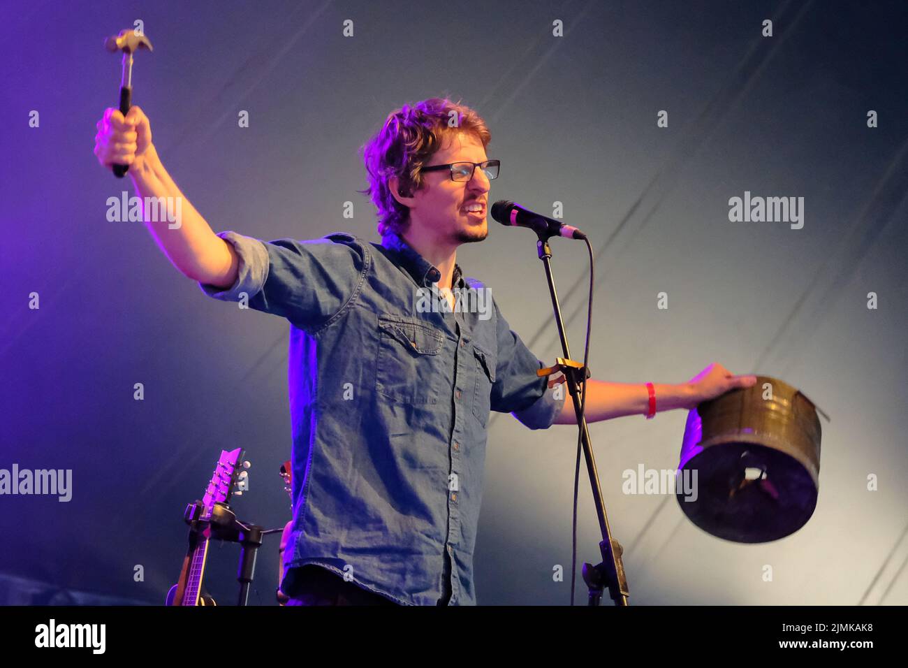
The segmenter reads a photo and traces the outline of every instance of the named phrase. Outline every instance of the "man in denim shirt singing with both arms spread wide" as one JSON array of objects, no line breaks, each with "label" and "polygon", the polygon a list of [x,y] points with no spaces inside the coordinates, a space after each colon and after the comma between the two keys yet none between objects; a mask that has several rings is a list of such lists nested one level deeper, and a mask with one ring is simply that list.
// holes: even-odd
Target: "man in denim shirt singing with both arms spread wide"
[{"label": "man in denim shirt singing with both arms spread wide", "polygon": [[[98,130],[99,162],[129,165],[140,196],[183,197],[141,109],[108,109]],[[475,111],[446,99],[392,112],[364,147],[380,244],[214,234],[184,197],[178,227],[147,223],[206,294],[291,324],[293,520],[281,585],[291,604],[475,603],[489,411],[531,429],[576,424],[494,298],[463,307],[464,294],[489,295],[456,263],[460,244],[489,234],[489,140]],[[434,288],[444,301],[426,308]],[[587,420],[652,416],[654,401],[693,408],[754,382],[718,364],[687,384],[590,380]]]}]

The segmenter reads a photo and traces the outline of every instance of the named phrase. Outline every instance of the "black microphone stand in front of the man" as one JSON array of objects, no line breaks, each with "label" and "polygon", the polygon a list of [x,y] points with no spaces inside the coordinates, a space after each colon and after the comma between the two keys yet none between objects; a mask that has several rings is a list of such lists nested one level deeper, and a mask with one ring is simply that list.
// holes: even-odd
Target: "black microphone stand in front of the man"
[{"label": "black microphone stand in front of the man", "polygon": [[[595,566],[591,563],[583,564],[583,581],[587,583],[589,599],[587,605],[599,605],[602,601],[602,593],[605,587],[608,587],[608,593],[616,605],[627,605],[627,597],[630,592],[627,589],[627,578],[624,572],[624,563],[621,561],[621,554],[624,550],[616,539],[612,538],[611,531],[608,528],[608,517],[606,514],[606,505],[602,500],[602,489],[599,486],[599,476],[596,471],[596,460],[593,457],[593,448],[589,440],[589,429],[587,428],[587,418],[581,419],[580,415],[580,388],[581,379],[586,382],[589,371],[583,368],[583,364],[577,364],[570,359],[570,349],[568,348],[568,334],[565,332],[564,320],[561,317],[561,306],[558,304],[558,293],[555,290],[555,278],[552,275],[552,249],[548,245],[548,240],[557,234],[550,234],[536,230],[539,238],[537,250],[539,259],[546,267],[546,279],[548,280],[548,292],[552,297],[552,307],[555,310],[555,322],[558,324],[558,337],[561,339],[561,349],[564,351],[565,358],[559,358],[557,367],[565,375],[568,383],[568,392],[574,401],[574,413],[577,415],[577,425],[580,430],[581,442],[583,444],[583,454],[587,460],[587,472],[589,473],[589,484],[593,488],[593,502],[596,503],[596,513],[599,518],[599,530],[602,533],[602,541],[599,543],[599,553],[602,555],[602,561]],[[553,369],[540,369],[551,372]]]}]

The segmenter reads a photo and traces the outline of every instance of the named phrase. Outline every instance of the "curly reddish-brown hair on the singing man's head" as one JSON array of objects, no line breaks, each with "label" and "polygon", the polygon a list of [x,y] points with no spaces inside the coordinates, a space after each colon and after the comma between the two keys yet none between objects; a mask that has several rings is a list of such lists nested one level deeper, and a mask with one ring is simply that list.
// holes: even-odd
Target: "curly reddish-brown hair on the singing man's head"
[{"label": "curly reddish-brown hair on the singing man's head", "polygon": [[468,132],[483,147],[492,139],[482,117],[469,106],[447,97],[430,97],[392,111],[378,133],[360,147],[369,176],[369,187],[358,193],[369,195],[378,209],[382,236],[403,232],[410,222],[410,207],[400,204],[390,192],[390,179],[400,179],[400,190],[410,195],[423,186],[420,167],[425,165],[449,135]]}]

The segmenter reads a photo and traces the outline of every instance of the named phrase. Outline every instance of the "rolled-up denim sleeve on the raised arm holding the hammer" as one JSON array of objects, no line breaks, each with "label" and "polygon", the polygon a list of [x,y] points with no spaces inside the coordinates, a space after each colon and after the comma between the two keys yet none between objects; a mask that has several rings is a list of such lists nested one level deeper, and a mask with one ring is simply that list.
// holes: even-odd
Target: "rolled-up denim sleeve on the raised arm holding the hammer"
[{"label": "rolled-up denim sleeve on the raised arm holding the hammer", "polygon": [[239,274],[227,290],[199,283],[202,292],[232,302],[245,296],[250,308],[304,330],[317,330],[340,313],[366,273],[366,252],[350,234],[268,242],[232,231],[218,236],[236,251]]}]

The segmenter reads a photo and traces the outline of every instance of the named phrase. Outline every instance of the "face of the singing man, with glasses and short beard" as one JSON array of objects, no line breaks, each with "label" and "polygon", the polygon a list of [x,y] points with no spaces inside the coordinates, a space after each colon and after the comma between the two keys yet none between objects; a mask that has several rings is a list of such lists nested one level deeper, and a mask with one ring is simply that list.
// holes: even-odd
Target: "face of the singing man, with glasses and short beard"
[{"label": "face of the singing man, with glasses and short beard", "polygon": [[[470,133],[449,135],[441,149],[429,158],[427,167],[449,163],[484,163],[486,149]],[[469,204],[480,204],[477,213],[468,212]],[[423,186],[413,194],[410,225],[419,225],[439,241],[469,244],[489,235],[486,220],[489,205],[489,177],[479,167],[469,181],[453,181],[450,170],[423,174]]]}]

